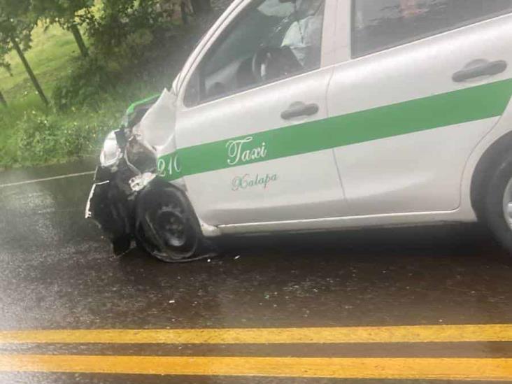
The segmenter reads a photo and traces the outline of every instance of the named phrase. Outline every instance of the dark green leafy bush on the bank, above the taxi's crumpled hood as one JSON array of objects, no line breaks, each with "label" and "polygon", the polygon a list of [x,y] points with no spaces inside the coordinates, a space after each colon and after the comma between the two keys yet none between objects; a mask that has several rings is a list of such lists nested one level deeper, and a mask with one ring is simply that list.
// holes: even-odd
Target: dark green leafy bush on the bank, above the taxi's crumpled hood
[{"label": "dark green leafy bush on the bank, above the taxi's crumpled hood", "polygon": [[173,4],[179,2],[167,2],[171,8],[162,8],[162,0],[104,0],[101,12],[85,15],[90,56],[59,79],[51,97],[55,109],[100,108],[103,94],[115,92],[119,84],[148,78],[148,64],[169,55],[162,43],[173,31]]}]

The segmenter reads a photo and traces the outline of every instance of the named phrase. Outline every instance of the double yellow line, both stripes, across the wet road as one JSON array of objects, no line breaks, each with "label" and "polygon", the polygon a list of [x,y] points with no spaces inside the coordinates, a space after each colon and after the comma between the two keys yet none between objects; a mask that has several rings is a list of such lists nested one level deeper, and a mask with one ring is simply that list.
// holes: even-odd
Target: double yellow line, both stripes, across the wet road
[{"label": "double yellow line, both stripes, across the wet road", "polygon": [[[512,341],[512,325],[0,332],[6,343],[460,343]],[[464,346],[461,346],[461,349]],[[512,380],[512,358],[0,355],[0,371],[206,376]]]}]

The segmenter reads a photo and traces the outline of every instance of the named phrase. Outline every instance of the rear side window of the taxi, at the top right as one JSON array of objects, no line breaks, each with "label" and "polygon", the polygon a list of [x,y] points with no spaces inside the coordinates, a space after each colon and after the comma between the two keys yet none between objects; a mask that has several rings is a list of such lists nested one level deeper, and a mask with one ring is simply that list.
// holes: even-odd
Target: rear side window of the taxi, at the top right
[{"label": "rear side window of the taxi, at the top right", "polygon": [[512,11],[512,0],[353,1],[353,57]]}]

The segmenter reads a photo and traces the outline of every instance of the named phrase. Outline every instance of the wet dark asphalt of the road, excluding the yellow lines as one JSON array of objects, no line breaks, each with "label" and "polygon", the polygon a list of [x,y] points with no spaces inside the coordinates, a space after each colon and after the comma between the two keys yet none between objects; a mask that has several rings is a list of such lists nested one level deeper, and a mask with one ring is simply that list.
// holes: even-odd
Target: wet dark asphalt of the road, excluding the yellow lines
[{"label": "wet dark asphalt of the road, excluding the yellow lines", "polygon": [[[79,162],[9,171],[0,173],[0,185],[92,168]],[[512,323],[512,257],[477,225],[223,239],[220,257],[163,264],[136,249],[111,254],[83,219],[91,179],[0,187],[1,330]],[[11,353],[510,358],[512,343],[0,345],[0,354]],[[335,382],[356,381],[0,373],[0,383]]]}]

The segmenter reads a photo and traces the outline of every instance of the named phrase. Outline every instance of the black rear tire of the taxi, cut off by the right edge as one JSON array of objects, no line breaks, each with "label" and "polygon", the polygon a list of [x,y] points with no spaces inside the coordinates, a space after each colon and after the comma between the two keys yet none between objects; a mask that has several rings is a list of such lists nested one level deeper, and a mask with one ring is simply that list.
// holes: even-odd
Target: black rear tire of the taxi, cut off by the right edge
[{"label": "black rear tire of the taxi, cut off by the right edge", "polygon": [[483,215],[492,234],[512,253],[512,154],[497,163],[485,185]]}]

